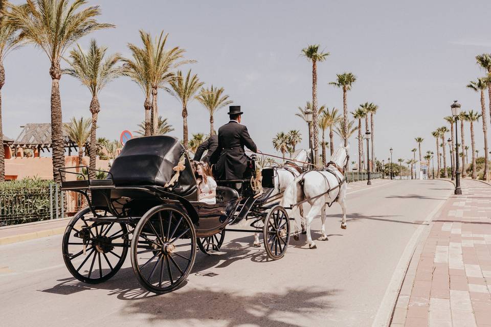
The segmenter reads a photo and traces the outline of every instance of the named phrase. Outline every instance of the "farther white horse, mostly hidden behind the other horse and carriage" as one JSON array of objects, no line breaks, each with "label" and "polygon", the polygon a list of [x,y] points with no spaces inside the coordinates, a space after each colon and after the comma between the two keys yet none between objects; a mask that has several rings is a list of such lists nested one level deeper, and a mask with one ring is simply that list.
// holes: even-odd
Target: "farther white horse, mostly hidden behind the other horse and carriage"
[{"label": "farther white horse, mostly hidden behind the other horse and carriage", "polygon": [[[288,161],[286,160],[286,164],[283,165],[283,167],[277,168],[276,170],[276,176],[275,176],[275,189],[273,193],[271,194],[271,197],[284,193],[288,185],[292,184],[295,181],[295,178],[300,176],[302,168],[307,167],[308,164],[303,164],[303,165],[296,165],[300,161],[300,164],[302,162],[306,162],[308,158],[308,152],[307,150],[297,150],[295,153],[292,155],[290,158],[293,161]],[[293,164],[289,164],[293,163]],[[297,169],[295,166],[300,168]],[[280,202],[280,199],[277,201],[278,203]],[[292,213],[290,210],[287,210],[288,216],[292,217]],[[301,205],[297,210],[293,212],[294,215],[297,215],[295,217],[296,221],[300,220],[301,217],[303,216],[303,205]],[[255,247],[260,247],[261,243],[259,242],[259,234],[254,233],[254,246]]]}]

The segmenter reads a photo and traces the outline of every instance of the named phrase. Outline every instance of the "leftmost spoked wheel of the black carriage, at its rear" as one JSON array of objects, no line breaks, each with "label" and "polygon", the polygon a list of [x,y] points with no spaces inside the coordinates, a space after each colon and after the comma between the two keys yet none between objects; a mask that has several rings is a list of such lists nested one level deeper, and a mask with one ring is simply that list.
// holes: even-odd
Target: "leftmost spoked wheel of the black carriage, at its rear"
[{"label": "leftmost spoked wheel of the black carriage, at its rear", "polygon": [[[107,213],[106,213],[107,214]],[[113,277],[128,253],[126,225],[93,222],[91,209],[80,210],[66,226],[63,235],[63,260],[79,281],[97,284]]]}]

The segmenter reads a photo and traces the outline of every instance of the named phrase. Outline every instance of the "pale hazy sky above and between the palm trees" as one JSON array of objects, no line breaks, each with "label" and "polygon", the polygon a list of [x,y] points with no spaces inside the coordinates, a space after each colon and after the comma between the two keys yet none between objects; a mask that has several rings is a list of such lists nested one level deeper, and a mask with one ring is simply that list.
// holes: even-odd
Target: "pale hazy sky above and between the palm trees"
[{"label": "pale hazy sky above and between the palm trees", "polygon": [[[21,3],[14,1],[14,3]],[[379,106],[375,116],[375,156],[410,158],[414,137],[422,136],[422,150],[435,151],[431,131],[442,126],[453,100],[463,110],[481,110],[479,95],[465,85],[484,73],[475,56],[491,52],[488,31],[489,1],[90,1],[101,5],[101,22],[116,29],[91,37],[109,52],[128,56],[128,42],[140,44],[138,30],[169,33],[169,46],[187,50],[192,68],[209,86],[226,93],[245,112],[242,123],[262,151],[273,150],[279,131],[299,129],[307,147],[306,124],[294,114],[311,101],[311,64],[300,56],[308,44],[319,43],[330,53],[318,66],[319,104],[342,110],[342,91],[328,82],[337,73],[352,72],[358,80],[348,93],[353,111],[363,102]],[[138,5],[136,5],[138,4]],[[68,55],[68,53],[66,54]],[[2,89],[4,133],[15,138],[20,125],[50,122],[50,63],[28,45],[5,60]],[[90,116],[88,89],[70,76],[60,82],[63,121]],[[99,136],[119,138],[144,119],[144,97],[127,78],[109,84],[100,94]],[[486,106],[488,99],[486,95]],[[160,90],[160,113],[182,138],[181,107]],[[189,105],[190,133],[209,131],[207,111]],[[227,109],[215,115],[215,126],[228,121]],[[487,111],[489,126],[489,111]],[[476,124],[476,146],[483,153],[482,123]],[[470,130],[466,129],[470,145]],[[459,136],[460,137],[460,136]],[[336,139],[336,146],[339,144]],[[356,139],[351,157],[356,158]]]}]

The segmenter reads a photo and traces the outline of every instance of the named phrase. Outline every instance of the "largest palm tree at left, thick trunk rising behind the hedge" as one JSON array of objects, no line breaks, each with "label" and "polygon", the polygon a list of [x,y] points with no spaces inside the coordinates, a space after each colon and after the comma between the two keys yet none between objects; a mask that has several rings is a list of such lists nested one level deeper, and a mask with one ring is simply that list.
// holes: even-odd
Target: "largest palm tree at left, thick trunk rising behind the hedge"
[{"label": "largest palm tree at left, thick trunk rising behind the hedge", "polygon": [[96,17],[101,14],[99,6],[81,9],[86,0],[27,0],[26,5],[11,6],[4,12],[8,25],[19,29],[29,43],[38,46],[51,61],[51,141],[53,147],[53,177],[60,183],[64,173],[63,124],[59,81],[60,61],[64,52],[81,37],[93,31],[115,27],[100,24]]}]

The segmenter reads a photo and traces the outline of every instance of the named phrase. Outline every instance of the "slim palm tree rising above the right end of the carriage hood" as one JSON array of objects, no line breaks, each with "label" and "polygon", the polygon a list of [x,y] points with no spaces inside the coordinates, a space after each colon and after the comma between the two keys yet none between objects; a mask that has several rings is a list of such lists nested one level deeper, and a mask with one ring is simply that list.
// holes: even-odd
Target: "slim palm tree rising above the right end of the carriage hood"
[{"label": "slim palm tree rising above the right end of the carriage hood", "polygon": [[176,97],[183,107],[183,145],[188,147],[188,103],[194,99],[194,94],[205,83],[200,82],[198,76],[194,74],[191,76],[191,69],[189,69],[186,78],[183,78],[183,72],[177,71],[176,78],[170,82],[172,87],[171,94]]}]

